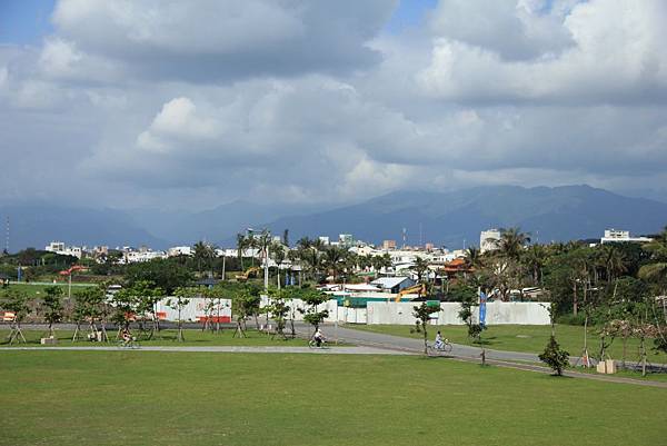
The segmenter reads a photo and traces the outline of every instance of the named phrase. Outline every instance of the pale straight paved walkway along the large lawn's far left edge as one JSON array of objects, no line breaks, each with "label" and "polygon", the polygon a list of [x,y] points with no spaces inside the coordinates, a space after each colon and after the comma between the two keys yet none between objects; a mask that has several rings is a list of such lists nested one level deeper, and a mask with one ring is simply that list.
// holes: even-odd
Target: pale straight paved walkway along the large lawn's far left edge
[{"label": "pale straight paved walkway along the large lawn's far left edge", "polygon": [[147,346],[139,348],[121,347],[0,347],[0,350],[68,350],[68,351],[206,351],[206,353],[293,353],[312,355],[412,355],[410,351],[390,350],[375,347],[269,347],[269,346]]}]

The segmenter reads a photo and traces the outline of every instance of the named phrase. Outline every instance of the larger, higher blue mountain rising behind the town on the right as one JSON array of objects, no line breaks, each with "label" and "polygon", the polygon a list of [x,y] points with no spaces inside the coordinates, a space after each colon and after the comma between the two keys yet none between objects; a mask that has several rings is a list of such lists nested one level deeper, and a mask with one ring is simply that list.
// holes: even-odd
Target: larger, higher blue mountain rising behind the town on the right
[{"label": "larger, higher blue mountain rising behind the town on the right", "polygon": [[397,191],[325,212],[285,217],[268,224],[290,229],[292,240],[352,234],[371,242],[431,241],[451,248],[479,245],[487,228],[519,226],[540,242],[599,238],[606,228],[656,232],[667,225],[667,204],[623,197],[589,186],[478,187],[452,192]]}]

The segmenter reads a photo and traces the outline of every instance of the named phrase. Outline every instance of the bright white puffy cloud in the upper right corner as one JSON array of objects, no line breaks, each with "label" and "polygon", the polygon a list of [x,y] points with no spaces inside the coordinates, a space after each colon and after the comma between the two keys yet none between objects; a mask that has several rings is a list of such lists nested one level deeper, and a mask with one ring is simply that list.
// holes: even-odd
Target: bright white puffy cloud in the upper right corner
[{"label": "bright white puffy cloud in the upper right corner", "polygon": [[438,37],[418,82],[427,95],[458,101],[664,100],[666,17],[660,0],[578,3],[563,19],[574,44],[529,60],[505,60],[502,50],[484,39]]}]

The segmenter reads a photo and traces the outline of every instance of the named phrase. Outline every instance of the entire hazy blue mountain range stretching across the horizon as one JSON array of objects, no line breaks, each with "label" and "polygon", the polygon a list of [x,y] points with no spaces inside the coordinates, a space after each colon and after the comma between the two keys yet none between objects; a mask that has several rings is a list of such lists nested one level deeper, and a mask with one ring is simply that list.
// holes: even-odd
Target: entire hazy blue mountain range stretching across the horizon
[{"label": "entire hazy blue mountain range stretching across the horizon", "polygon": [[667,225],[667,204],[624,197],[589,186],[489,186],[448,192],[395,191],[359,204],[323,206],[257,205],[235,201],[199,212],[68,208],[52,204],[0,206],[10,220],[10,251],[42,248],[51,240],[71,245],[166,248],[207,240],[235,246],[248,227],[269,228],[290,240],[352,234],[379,244],[434,242],[458,248],[479,245],[488,228],[518,226],[534,241],[599,238],[607,228],[654,234]]}]

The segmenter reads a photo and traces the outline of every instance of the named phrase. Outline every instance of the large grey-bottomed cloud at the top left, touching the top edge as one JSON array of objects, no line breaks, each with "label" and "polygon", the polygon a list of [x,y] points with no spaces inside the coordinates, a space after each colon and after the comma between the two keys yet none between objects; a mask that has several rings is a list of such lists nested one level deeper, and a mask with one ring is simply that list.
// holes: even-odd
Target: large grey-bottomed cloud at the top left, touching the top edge
[{"label": "large grey-bottomed cloud at the top left, touching the top edge", "polygon": [[61,0],[53,23],[132,76],[216,81],[367,68],[380,60],[367,42],[396,3]]}]

